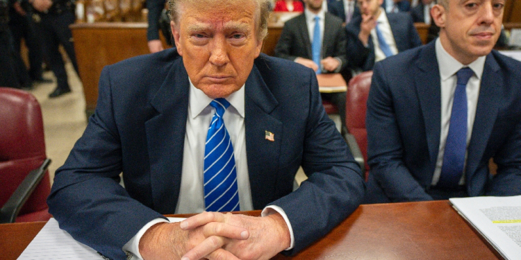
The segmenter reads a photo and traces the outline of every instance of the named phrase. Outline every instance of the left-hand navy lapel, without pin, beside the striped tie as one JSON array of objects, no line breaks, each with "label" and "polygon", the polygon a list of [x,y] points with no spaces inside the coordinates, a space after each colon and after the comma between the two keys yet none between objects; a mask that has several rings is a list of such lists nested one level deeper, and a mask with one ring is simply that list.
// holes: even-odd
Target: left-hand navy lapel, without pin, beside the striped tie
[{"label": "left-hand navy lapel, without pin, beside the striped tie", "polygon": [[162,214],[174,213],[181,186],[190,91],[182,62],[182,58],[174,60],[174,69],[150,101],[157,114],[145,122],[154,207]]}]

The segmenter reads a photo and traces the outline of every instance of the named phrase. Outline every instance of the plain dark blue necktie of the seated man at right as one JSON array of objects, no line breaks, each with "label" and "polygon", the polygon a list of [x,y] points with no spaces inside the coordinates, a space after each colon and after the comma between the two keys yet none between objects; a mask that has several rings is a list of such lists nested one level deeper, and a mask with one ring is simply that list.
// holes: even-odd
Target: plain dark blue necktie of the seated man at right
[{"label": "plain dark blue necktie of the seated man at right", "polygon": [[472,69],[466,67],[456,72],[458,81],[454,91],[454,101],[450,115],[449,133],[443,153],[443,166],[441,168],[438,187],[458,187],[465,165],[465,151],[467,150],[467,83],[474,74]]}]

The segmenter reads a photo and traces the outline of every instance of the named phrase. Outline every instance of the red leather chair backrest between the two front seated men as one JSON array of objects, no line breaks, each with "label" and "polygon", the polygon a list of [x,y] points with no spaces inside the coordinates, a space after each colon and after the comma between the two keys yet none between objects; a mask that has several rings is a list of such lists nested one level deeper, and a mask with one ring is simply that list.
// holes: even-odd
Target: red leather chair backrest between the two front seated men
[{"label": "red leather chair backrest between the two front seated men", "polygon": [[371,87],[372,71],[365,71],[349,80],[345,103],[345,125],[354,135],[365,162],[365,177],[369,173],[367,165],[367,130],[365,130],[365,112],[367,96]]}]

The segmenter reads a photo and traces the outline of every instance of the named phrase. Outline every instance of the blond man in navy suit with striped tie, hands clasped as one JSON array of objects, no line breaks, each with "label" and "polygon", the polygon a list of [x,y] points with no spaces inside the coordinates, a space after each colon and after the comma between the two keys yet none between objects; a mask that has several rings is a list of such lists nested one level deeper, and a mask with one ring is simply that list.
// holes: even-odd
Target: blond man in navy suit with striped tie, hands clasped
[{"label": "blond man in navy suit with striped tie, hands clasped", "polygon": [[[268,0],[170,0],[176,48],[104,69],[48,199],[62,229],[110,259],[270,259],[358,207],[361,171],[315,71],[260,54],[269,11]],[[292,192],[299,166],[308,180]],[[262,216],[216,212],[251,209]],[[213,212],[163,216],[202,211]]]}]

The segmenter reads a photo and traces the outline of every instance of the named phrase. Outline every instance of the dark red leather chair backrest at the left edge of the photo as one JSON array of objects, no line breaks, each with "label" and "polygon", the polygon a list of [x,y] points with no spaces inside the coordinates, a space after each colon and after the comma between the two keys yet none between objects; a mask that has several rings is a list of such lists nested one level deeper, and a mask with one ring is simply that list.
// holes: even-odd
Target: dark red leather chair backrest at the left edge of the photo
[{"label": "dark red leather chair backrest at the left edge of the photo", "polygon": [[[0,207],[45,154],[42,110],[28,92],[0,87]],[[19,211],[16,222],[49,220],[49,172]]]}]

